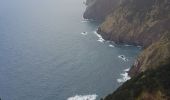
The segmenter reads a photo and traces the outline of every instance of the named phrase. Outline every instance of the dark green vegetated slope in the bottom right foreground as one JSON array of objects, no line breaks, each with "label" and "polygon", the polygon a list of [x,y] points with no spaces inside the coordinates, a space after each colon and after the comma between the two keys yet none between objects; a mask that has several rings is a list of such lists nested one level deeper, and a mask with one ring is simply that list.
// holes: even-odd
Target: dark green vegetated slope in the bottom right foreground
[{"label": "dark green vegetated slope in the bottom right foreground", "polygon": [[104,100],[170,100],[169,76],[170,63],[147,70],[124,83]]}]

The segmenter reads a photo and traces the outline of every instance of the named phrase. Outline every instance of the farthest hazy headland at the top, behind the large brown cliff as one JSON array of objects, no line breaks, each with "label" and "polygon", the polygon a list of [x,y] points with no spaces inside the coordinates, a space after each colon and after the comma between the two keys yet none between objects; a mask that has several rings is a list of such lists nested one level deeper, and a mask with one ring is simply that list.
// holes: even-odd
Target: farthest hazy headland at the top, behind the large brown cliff
[{"label": "farthest hazy headland at the top, behind the large brown cliff", "polygon": [[102,20],[121,2],[122,0],[87,0],[87,8],[83,17],[85,19]]}]

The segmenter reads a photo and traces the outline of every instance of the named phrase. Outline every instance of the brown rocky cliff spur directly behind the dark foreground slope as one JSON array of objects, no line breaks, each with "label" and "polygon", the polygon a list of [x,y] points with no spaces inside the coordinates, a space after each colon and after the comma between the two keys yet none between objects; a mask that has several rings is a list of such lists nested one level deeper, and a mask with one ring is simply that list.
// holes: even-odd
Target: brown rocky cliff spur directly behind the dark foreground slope
[{"label": "brown rocky cliff spur directly behind the dark foreground slope", "polygon": [[131,76],[148,69],[157,69],[170,62],[170,33],[144,49],[130,70]]}]

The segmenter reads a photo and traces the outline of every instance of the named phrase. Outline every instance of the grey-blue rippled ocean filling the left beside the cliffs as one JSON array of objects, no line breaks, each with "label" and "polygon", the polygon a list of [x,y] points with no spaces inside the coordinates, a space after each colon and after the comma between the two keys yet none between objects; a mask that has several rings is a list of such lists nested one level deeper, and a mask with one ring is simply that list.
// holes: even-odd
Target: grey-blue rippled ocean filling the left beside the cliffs
[{"label": "grey-blue rippled ocean filling the left beside the cliffs", "polygon": [[105,41],[82,0],[0,0],[0,98],[99,100],[130,79],[139,47]]}]

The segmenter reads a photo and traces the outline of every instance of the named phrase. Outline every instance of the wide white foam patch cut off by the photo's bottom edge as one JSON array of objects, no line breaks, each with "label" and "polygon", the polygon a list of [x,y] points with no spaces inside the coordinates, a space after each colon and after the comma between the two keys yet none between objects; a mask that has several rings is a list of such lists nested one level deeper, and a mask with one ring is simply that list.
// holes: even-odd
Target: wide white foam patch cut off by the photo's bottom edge
[{"label": "wide white foam patch cut off by the photo's bottom edge", "polygon": [[96,100],[97,95],[76,95],[74,97],[69,97],[67,100]]}]

